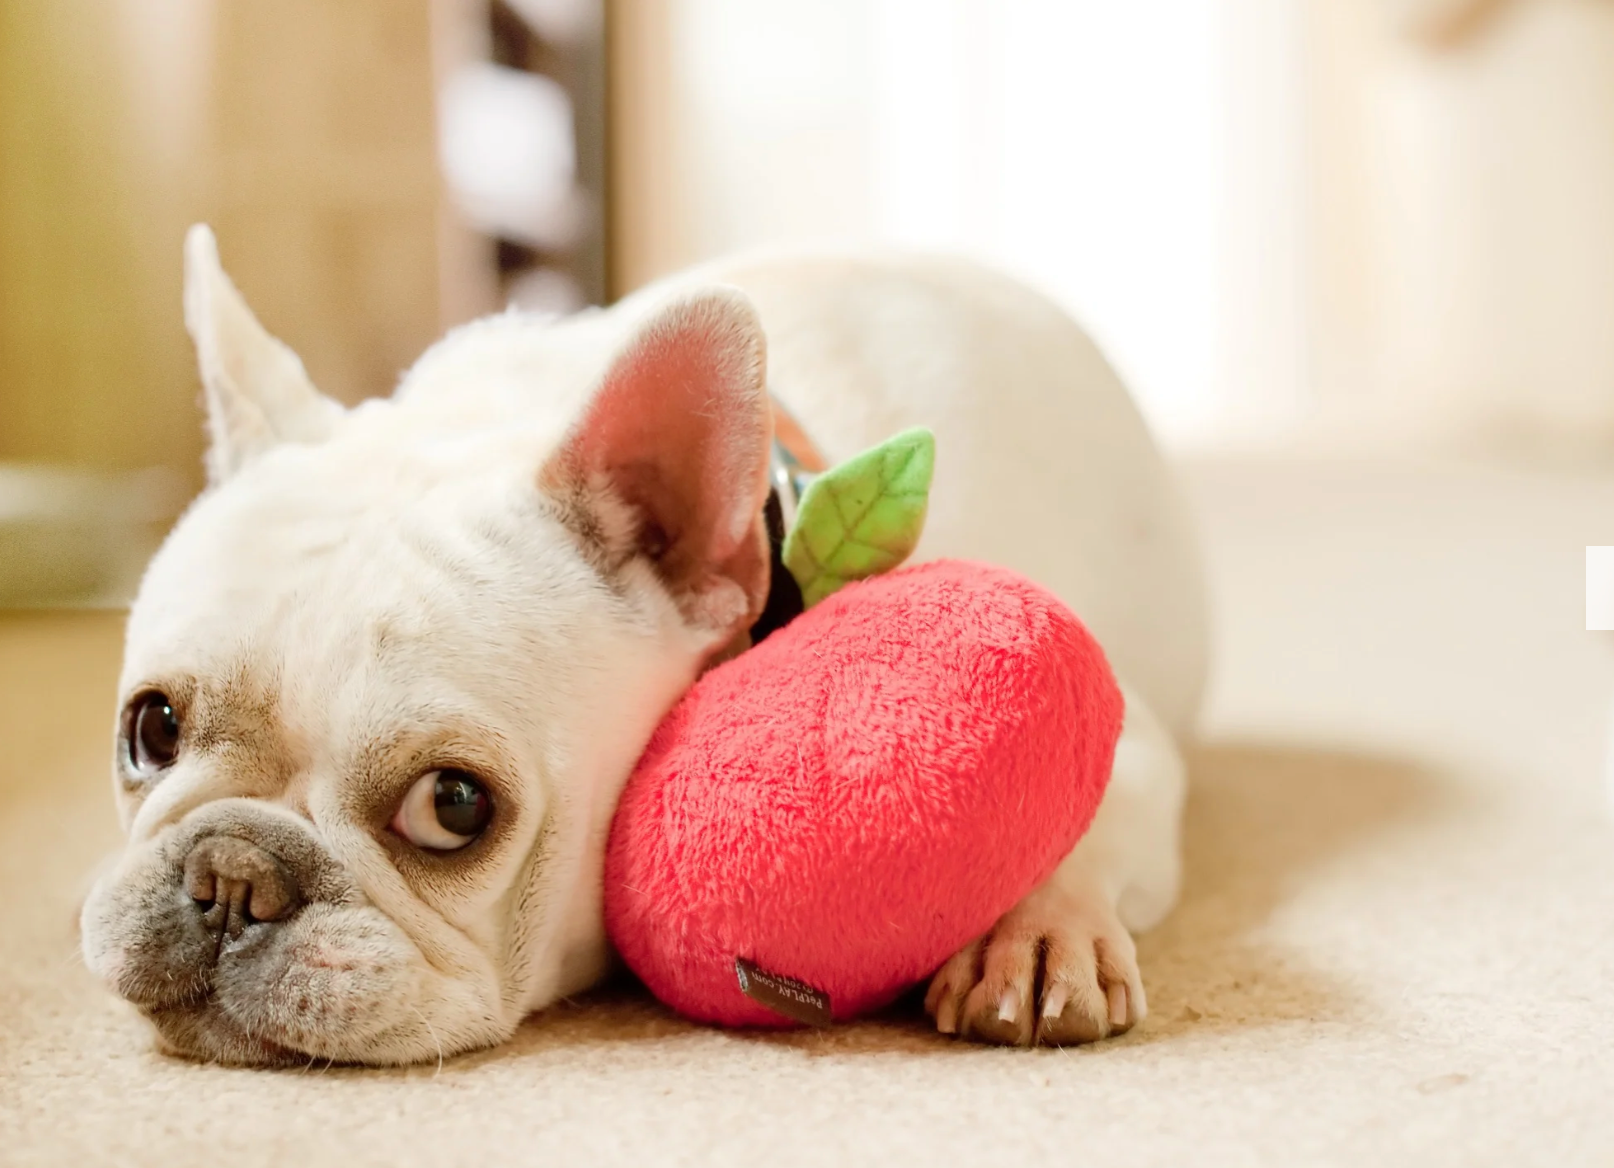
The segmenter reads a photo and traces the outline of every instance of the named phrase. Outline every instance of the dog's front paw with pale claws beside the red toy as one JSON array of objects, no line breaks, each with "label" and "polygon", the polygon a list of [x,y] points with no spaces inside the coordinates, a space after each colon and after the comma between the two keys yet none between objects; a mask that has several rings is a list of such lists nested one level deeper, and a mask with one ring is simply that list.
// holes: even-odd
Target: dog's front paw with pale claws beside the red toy
[{"label": "dog's front paw with pale claws beside the red toy", "polygon": [[1138,950],[1102,891],[1056,874],[941,966],[925,1012],[943,1034],[1072,1045],[1125,1034],[1146,1005]]}]

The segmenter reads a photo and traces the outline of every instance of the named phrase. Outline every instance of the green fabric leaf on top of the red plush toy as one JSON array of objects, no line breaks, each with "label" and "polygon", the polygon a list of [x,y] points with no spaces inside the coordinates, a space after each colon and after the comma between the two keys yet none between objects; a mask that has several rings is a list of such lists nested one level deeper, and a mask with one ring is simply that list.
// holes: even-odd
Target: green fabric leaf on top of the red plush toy
[{"label": "green fabric leaf on top of the red plush toy", "polygon": [[784,566],[809,608],[912,555],[935,468],[936,436],[909,429],[812,481],[784,537]]}]

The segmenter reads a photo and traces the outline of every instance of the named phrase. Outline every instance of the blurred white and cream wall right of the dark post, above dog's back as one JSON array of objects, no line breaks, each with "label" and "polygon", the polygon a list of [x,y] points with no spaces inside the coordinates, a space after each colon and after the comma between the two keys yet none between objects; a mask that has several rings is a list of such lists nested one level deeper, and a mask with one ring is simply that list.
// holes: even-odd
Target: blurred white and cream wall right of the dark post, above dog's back
[{"label": "blurred white and cream wall right of the dark post, above dog's back", "polygon": [[623,108],[626,284],[947,247],[1065,303],[1177,445],[1614,453],[1608,0],[618,11],[663,34]]}]

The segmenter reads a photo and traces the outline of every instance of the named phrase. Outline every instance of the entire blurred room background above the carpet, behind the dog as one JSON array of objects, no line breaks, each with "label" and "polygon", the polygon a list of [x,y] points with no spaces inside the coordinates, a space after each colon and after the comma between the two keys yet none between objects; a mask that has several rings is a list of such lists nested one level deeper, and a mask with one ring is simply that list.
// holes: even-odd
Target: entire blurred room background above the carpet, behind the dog
[{"label": "entire blurred room background above the carpet, behind the dog", "polygon": [[0,605],[200,487],[197,219],[347,402],[852,239],[1043,287],[1185,455],[1614,463],[1611,0],[0,0]]}]

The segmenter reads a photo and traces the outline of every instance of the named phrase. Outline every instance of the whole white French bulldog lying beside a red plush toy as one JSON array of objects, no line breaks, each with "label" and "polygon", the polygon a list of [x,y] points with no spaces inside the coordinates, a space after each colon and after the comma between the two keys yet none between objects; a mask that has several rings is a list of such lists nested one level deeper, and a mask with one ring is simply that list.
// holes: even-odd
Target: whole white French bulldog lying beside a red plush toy
[{"label": "whole white French bulldog lying beside a red plush toy", "polygon": [[128,845],[82,913],[165,1049],[436,1060],[607,971],[621,784],[768,592],[770,394],[830,461],[930,426],[918,558],[1041,581],[1127,687],[1093,828],[936,973],[936,1028],[1083,1042],[1143,1016],[1128,929],[1177,895],[1202,581],[1138,411],[1054,305],[952,260],[760,257],[478,321],[344,410],[199,226],[186,321],[210,486],[129,618]]}]

